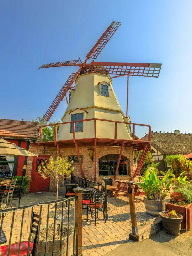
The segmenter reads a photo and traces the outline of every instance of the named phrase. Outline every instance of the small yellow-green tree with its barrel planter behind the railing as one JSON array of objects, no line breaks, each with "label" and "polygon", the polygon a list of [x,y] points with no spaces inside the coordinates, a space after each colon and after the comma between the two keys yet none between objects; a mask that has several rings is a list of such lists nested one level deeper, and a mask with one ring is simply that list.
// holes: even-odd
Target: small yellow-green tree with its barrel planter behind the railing
[{"label": "small yellow-green tree with its barrel planter behind the railing", "polygon": [[[59,188],[59,181],[65,176],[70,177],[71,172],[74,170],[74,167],[71,166],[72,162],[68,162],[67,158],[57,157],[56,160],[53,160],[53,157],[50,156],[49,164],[46,162],[45,164],[42,162],[41,165],[38,167],[38,172],[41,174],[42,178],[46,179],[48,177],[51,177],[55,180],[56,183],[56,200],[58,199],[58,188]],[[55,208],[56,215],[57,215],[57,207]],[[63,220],[62,220],[63,221]],[[73,230],[73,226],[70,229]],[[62,254],[66,255],[66,224],[63,224],[62,229]],[[47,225],[43,225],[40,228],[40,235],[39,235],[39,247],[37,255],[41,256],[45,253],[45,234],[47,231]],[[72,231],[71,231],[72,232]],[[73,236],[72,233],[69,233],[69,247],[72,248],[73,246]],[[55,235],[54,240],[54,255],[60,255],[60,234],[59,234],[59,224],[56,222],[55,230],[54,225],[50,224],[48,226],[48,245],[47,245],[47,251],[46,255],[52,255],[53,250],[53,234]],[[73,249],[71,249],[73,250]]]}]

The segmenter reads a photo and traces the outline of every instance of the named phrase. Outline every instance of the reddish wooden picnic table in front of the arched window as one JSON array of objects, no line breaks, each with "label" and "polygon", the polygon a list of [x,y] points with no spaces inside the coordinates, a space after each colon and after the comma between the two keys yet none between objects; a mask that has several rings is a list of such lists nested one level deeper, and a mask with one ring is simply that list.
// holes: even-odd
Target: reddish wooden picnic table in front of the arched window
[{"label": "reddish wooden picnic table in front of the arched window", "polygon": [[[114,197],[118,197],[118,196],[128,196],[128,191],[127,191],[127,182],[129,180],[114,180],[117,182],[117,188],[114,189],[115,194]],[[133,182],[133,193],[134,193],[134,198],[136,196],[142,196],[145,195],[144,191],[140,191],[139,186],[137,185],[137,182]],[[118,194],[118,192],[123,192],[122,194]],[[143,199],[135,199],[135,203],[141,203],[143,202]],[[127,202],[127,204],[129,204],[129,202]]]}]

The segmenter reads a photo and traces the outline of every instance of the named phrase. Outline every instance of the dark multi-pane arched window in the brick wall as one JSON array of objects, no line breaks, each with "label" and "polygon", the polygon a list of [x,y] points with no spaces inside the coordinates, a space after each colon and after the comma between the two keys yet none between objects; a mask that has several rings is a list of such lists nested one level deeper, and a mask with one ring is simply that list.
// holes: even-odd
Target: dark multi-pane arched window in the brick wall
[{"label": "dark multi-pane arched window in the brick wall", "polygon": [[[99,176],[114,176],[119,155],[108,154],[99,158]],[[129,175],[129,159],[121,156],[117,175]]]}]

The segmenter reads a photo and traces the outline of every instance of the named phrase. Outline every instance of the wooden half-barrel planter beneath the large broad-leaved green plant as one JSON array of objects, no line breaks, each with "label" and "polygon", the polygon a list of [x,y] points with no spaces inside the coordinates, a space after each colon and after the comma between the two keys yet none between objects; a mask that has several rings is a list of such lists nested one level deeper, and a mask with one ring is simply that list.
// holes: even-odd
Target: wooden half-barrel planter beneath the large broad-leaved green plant
[{"label": "wooden half-barrel planter beneath the large broad-leaved green plant", "polygon": [[159,216],[159,212],[165,211],[165,199],[149,200],[144,197],[146,213],[151,216]]}]

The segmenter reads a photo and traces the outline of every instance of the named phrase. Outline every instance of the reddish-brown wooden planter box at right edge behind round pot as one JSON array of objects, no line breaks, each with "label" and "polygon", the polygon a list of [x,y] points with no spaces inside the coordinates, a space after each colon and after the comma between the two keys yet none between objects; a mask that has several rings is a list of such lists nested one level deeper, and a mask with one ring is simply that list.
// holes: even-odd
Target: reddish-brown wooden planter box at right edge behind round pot
[{"label": "reddish-brown wooden planter box at right edge behind round pot", "polygon": [[166,203],[166,210],[175,210],[183,216],[183,221],[181,222],[181,229],[187,232],[192,229],[192,203],[187,206],[179,206],[177,204]]}]

